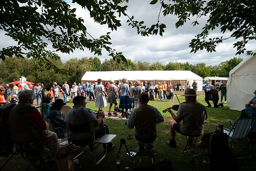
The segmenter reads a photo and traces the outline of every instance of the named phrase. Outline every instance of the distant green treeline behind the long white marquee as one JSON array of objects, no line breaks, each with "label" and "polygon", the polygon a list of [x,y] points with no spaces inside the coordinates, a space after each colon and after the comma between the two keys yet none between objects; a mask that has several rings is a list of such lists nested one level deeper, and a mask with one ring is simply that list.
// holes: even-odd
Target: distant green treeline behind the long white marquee
[{"label": "distant green treeline behind the long white marquee", "polygon": [[206,66],[205,63],[192,65],[189,62],[180,63],[177,61],[170,61],[163,65],[161,62],[137,62],[130,59],[127,62],[121,61],[119,64],[113,59],[105,59],[101,63],[98,57],[72,58],[65,63],[50,58],[48,60],[58,68],[69,70],[69,72],[56,74],[54,68],[46,69],[44,62],[33,58],[7,57],[5,61],[0,60],[0,82],[17,81],[23,76],[27,78],[27,81],[44,83],[48,90],[53,81],[59,85],[62,85],[64,81],[67,81],[69,85],[74,82],[79,83],[86,71],[189,70],[203,78],[209,76],[229,77],[229,71],[237,66],[243,58],[234,57],[215,66]]}]

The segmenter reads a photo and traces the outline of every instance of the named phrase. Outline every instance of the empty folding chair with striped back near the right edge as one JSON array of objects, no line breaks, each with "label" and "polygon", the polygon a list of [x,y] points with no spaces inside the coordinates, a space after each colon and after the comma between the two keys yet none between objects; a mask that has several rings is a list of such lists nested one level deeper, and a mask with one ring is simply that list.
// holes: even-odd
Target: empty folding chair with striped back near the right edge
[{"label": "empty folding chair with striped back near the right edge", "polygon": [[[231,123],[231,120],[228,120]],[[255,118],[238,118],[234,124],[232,125],[231,129],[224,128],[224,133],[227,133],[229,137],[229,143],[231,147],[231,151],[233,152],[233,146],[232,144],[237,143],[244,143],[246,148],[249,149],[250,155],[247,157],[241,157],[237,159],[242,158],[250,158],[252,156],[251,149],[249,147],[250,139],[248,139],[248,133],[251,131],[251,128],[253,127],[255,123]]]}]

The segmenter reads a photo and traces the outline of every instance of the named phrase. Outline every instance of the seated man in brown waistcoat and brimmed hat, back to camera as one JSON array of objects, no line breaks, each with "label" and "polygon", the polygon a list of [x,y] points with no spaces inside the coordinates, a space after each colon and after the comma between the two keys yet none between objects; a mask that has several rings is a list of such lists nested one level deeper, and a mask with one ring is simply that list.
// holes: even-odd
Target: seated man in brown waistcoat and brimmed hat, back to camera
[{"label": "seated man in brown waistcoat and brimmed hat, back to camera", "polygon": [[[157,108],[147,104],[149,100],[147,92],[142,92],[139,96],[140,106],[132,110],[130,116],[125,112],[125,125],[129,129],[135,126],[135,139],[143,143],[151,143],[157,138],[156,124],[164,120]],[[142,152],[142,145],[139,145],[139,151]],[[150,148],[153,148],[153,144]]]}]

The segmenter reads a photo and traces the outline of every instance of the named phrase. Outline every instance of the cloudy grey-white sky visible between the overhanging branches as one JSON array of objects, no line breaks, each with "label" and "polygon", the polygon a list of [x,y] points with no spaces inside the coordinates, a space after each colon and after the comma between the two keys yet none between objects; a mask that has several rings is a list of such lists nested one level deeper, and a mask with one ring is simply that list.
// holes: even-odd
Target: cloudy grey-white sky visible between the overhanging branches
[{"label": "cloudy grey-white sky visible between the overhanging branches", "polygon": [[[69,1],[69,0],[68,0]],[[152,24],[157,23],[158,13],[160,10],[160,3],[155,5],[150,5],[151,0],[130,0],[128,4],[127,14],[129,16],[135,16],[138,21],[143,20],[148,27]],[[190,41],[195,35],[201,33],[201,29],[206,23],[206,18],[199,20],[200,25],[192,27],[191,23],[193,19],[188,21],[184,26],[176,29],[175,23],[177,22],[176,16],[160,16],[160,23],[166,24],[165,33],[163,36],[160,35],[150,35],[148,37],[142,37],[137,34],[137,30],[128,26],[126,21],[127,17],[121,16],[122,27],[118,28],[117,31],[111,31],[107,26],[102,26],[94,23],[93,18],[90,18],[90,14],[87,10],[80,8],[76,4],[71,4],[72,8],[77,8],[76,15],[84,19],[84,24],[87,27],[87,32],[89,32],[94,38],[99,38],[101,35],[105,35],[106,32],[111,32],[110,37],[112,39],[112,44],[110,47],[116,49],[118,52],[123,52],[123,55],[127,59],[132,61],[141,62],[161,62],[162,64],[167,64],[169,61],[178,61],[181,63],[189,62],[191,64],[196,64],[199,62],[204,62],[206,65],[218,65],[222,61],[229,60],[236,56],[236,48],[233,48],[233,44],[236,42],[235,39],[225,40],[224,43],[219,44],[216,48],[217,52],[207,53],[206,50],[197,51],[197,53],[190,53],[191,48],[189,48]],[[210,33],[209,37],[221,37],[222,34],[219,30],[215,30]],[[223,37],[228,37],[229,34],[225,34]],[[4,36],[4,32],[0,31],[0,48],[7,46],[14,46],[14,42],[11,38]],[[255,41],[251,41],[246,45],[246,50],[255,51]],[[49,45],[51,43],[48,43]],[[48,50],[52,50],[51,46]],[[95,57],[91,54],[89,50],[81,51],[75,50],[71,54],[60,55],[62,62],[66,62],[72,57],[82,58],[82,57]],[[246,54],[240,55],[240,57],[245,58]],[[105,50],[102,51],[102,56],[98,56],[103,62],[105,59],[109,59],[110,56]]]}]

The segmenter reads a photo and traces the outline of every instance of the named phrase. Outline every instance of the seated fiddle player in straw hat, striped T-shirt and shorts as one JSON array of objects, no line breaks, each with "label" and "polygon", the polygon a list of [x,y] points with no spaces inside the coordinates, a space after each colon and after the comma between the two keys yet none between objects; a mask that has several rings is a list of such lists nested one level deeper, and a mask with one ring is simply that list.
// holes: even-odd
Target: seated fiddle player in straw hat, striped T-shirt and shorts
[{"label": "seated fiddle player in straw hat, striped T-shirt and shorts", "polygon": [[[195,136],[202,135],[204,132],[204,121],[207,119],[206,106],[196,101],[194,89],[186,89],[185,94],[186,103],[180,104],[176,115],[171,108],[167,108],[173,119],[176,121],[170,123],[171,139],[166,141],[166,145],[176,148],[176,131],[181,135],[189,136],[189,145],[192,145],[192,139]],[[182,124],[179,124],[182,121]]]}]

